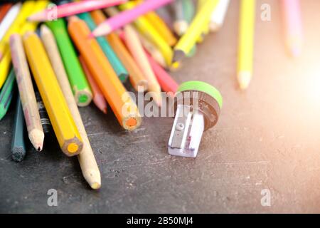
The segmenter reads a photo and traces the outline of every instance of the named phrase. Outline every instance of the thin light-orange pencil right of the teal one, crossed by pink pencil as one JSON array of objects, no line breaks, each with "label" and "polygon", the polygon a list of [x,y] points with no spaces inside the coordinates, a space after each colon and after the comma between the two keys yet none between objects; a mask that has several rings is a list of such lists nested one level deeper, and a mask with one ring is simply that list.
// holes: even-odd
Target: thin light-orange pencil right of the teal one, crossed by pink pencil
[{"label": "thin light-orange pencil right of the teal one, crossed by pink pencil", "polygon": [[[96,10],[91,12],[92,19],[95,20],[96,24],[100,24],[102,21],[105,21],[105,15],[101,10]],[[110,46],[112,46],[115,53],[122,61],[124,67],[129,73],[129,80],[135,90],[141,90],[144,92],[148,88],[148,82],[142,71],[140,71],[137,63],[132,58],[131,54],[124,46],[124,43],[120,40],[119,36],[116,33],[110,33],[106,36],[107,41],[109,41]]]}]

